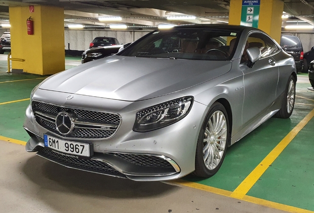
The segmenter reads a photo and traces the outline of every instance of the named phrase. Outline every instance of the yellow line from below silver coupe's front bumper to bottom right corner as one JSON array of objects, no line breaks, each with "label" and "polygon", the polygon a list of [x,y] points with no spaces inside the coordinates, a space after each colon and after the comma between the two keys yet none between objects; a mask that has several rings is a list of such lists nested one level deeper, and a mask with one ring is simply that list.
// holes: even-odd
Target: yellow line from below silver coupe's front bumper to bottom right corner
[{"label": "yellow line from below silver coupe's front bumper to bottom right corner", "polygon": [[[190,182],[190,181],[186,181],[186,180],[182,180],[182,179],[170,180],[170,181],[164,181],[164,182],[168,183],[168,184],[170,183],[170,184],[184,185],[184,186],[200,189],[200,190],[207,191],[207,192],[212,192],[214,194],[219,194],[219,195],[223,195],[226,197],[232,197],[231,191],[215,188],[212,186],[203,185],[200,183]],[[309,210],[304,210],[304,209],[300,209],[297,207],[279,204],[279,203],[275,203],[272,201],[263,200],[260,198],[255,198],[255,197],[251,197],[251,196],[247,196],[247,195],[245,195],[243,198],[241,198],[239,200],[247,201],[250,203],[254,203],[254,204],[261,205],[261,206],[270,207],[273,209],[282,210],[282,211],[286,211],[286,212],[290,212],[290,213],[314,213],[314,212],[309,211]]]}]

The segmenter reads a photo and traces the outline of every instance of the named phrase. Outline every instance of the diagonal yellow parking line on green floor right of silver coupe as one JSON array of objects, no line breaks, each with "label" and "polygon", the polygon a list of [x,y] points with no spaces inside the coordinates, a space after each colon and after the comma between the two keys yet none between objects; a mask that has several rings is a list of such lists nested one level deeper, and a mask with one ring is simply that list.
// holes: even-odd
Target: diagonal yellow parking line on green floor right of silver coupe
[{"label": "diagonal yellow parking line on green floor right of silver coupe", "polygon": [[275,161],[283,149],[294,139],[300,130],[313,118],[314,109],[294,127],[281,142],[262,160],[262,162],[238,185],[231,197],[243,199],[244,195],[252,188],[256,181],[263,175],[268,167]]}]

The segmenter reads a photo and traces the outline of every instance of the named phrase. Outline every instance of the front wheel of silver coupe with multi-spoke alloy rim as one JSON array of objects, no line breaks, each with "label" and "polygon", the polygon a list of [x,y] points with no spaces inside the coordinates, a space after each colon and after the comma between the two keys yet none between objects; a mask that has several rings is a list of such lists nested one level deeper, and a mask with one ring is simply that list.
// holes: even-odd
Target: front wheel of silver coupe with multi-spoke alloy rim
[{"label": "front wheel of silver coupe with multi-spoke alloy rim", "polygon": [[[219,119],[217,127],[215,127],[216,119]],[[224,161],[230,140],[230,124],[227,111],[222,104],[215,102],[209,108],[198,135],[193,174],[202,178],[215,175]]]}]

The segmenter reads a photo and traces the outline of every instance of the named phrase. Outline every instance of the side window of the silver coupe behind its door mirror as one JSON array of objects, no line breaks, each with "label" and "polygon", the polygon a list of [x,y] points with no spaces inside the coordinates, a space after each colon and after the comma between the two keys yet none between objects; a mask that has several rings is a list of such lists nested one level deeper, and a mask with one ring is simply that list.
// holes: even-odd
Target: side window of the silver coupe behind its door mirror
[{"label": "side window of the silver coupe behind its door mirror", "polygon": [[247,43],[247,48],[258,47],[261,50],[261,58],[268,57],[279,50],[275,42],[270,37],[262,33],[251,34],[247,38]]}]

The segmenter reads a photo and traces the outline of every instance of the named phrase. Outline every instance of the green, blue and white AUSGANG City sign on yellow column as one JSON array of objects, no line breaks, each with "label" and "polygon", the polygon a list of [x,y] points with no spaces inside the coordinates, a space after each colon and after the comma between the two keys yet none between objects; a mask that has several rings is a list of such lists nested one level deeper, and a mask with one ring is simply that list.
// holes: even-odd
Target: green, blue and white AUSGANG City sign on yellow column
[{"label": "green, blue and white AUSGANG City sign on yellow column", "polygon": [[243,26],[258,27],[261,0],[242,0],[241,24]]}]

